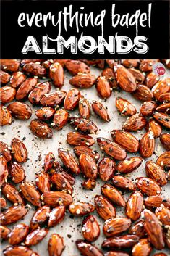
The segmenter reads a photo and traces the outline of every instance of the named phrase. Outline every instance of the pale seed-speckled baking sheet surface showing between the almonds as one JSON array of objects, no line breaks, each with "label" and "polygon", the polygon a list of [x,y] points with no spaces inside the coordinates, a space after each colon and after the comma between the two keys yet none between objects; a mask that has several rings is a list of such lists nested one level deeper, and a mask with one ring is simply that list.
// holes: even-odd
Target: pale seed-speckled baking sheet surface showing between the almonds
[{"label": "pale seed-speckled baking sheet surface showing between the almonds", "polygon": [[[90,70],[91,70],[90,73],[94,74],[96,77],[98,75],[101,75],[101,70],[99,70],[97,67],[90,67]],[[166,76],[170,77],[170,74],[168,73],[167,70],[166,70]],[[69,79],[71,77],[72,76],[69,75],[67,71],[65,71],[65,80],[64,80],[64,86],[62,89],[68,91],[69,88],[72,88],[72,86],[69,85]],[[52,86],[51,91],[55,91],[55,90],[56,88]],[[95,86],[93,86],[93,88],[80,89],[80,91],[81,91],[81,94],[89,100],[89,102],[92,102],[93,99],[101,100],[97,95]],[[103,122],[101,119],[96,117],[96,115],[94,115],[93,111],[91,111],[90,119],[92,119],[99,128],[98,134],[92,135],[93,138],[96,139],[98,136],[102,136],[107,139],[111,139],[110,132],[113,129],[121,129],[122,123],[124,123],[124,121],[127,119],[127,117],[123,117],[122,115],[119,115],[119,112],[116,110],[116,107],[115,107],[116,96],[121,96],[124,99],[128,99],[130,102],[135,104],[135,107],[137,108],[137,112],[140,111],[141,102],[138,102],[136,99],[134,99],[134,97],[132,97],[131,94],[128,94],[124,91],[121,91],[121,92],[113,91],[113,93],[111,94],[111,97],[107,99],[106,102],[104,100],[101,101],[104,106],[108,107],[109,116],[111,117],[111,121],[109,123]],[[35,110],[38,109],[39,107],[32,107],[29,101],[27,101],[26,103],[29,104],[33,110],[33,115],[30,118],[30,120],[32,120],[35,117]],[[72,115],[76,115],[78,112],[77,110],[75,110],[74,112],[72,111],[71,113]],[[57,153],[57,149],[59,147],[68,148],[73,153],[73,147],[69,146],[66,143],[67,133],[69,131],[73,131],[73,128],[69,124],[67,124],[61,131],[53,130],[54,136],[52,139],[42,140],[33,136],[33,133],[30,131],[30,128],[29,128],[30,120],[27,120],[27,121],[14,120],[12,125],[2,127],[0,140],[4,141],[8,145],[10,145],[10,141],[14,137],[17,137],[18,139],[21,139],[24,141],[25,146],[27,147],[27,150],[29,153],[29,160],[25,162],[25,164],[23,164],[22,166],[25,168],[26,180],[35,181],[35,173],[42,170],[45,154],[47,154],[48,152],[53,152],[54,156],[56,157],[56,160],[59,160],[58,153]],[[167,131],[165,130],[165,132]],[[140,139],[143,133],[145,133],[145,129],[143,129],[143,131],[140,131],[139,133],[136,132],[134,134],[138,139]],[[97,149],[102,156],[102,153],[97,143],[95,143],[95,145],[93,145],[91,148]],[[153,154],[152,157],[147,158],[145,161],[148,161],[148,160],[156,161],[156,158],[162,152],[165,152],[165,151],[166,150],[163,149],[163,147],[161,146],[159,139],[156,139],[156,153]],[[137,154],[128,153],[127,157],[130,157],[132,155],[134,156]],[[140,165],[140,168],[138,168],[137,170],[127,175],[129,179],[131,179],[132,181],[135,181],[136,177],[146,176],[145,161],[143,161],[143,164]],[[83,190],[81,187],[82,181],[84,181],[84,178],[82,178],[81,175],[76,177],[73,199],[74,201],[81,200],[84,202],[91,202],[93,204],[95,195],[101,194],[101,185],[103,184],[103,181],[100,181],[100,179],[98,178],[96,187],[95,189],[93,189],[93,191]],[[165,198],[168,198],[170,195],[169,191],[170,191],[170,184],[163,186],[162,196],[164,196]],[[126,192],[124,194],[124,198],[127,199],[129,197],[129,194],[131,193]],[[29,225],[30,218],[33,216],[34,212],[35,212],[35,207],[32,206],[32,208],[29,210],[29,212],[25,216],[24,220],[20,220],[18,221],[18,223],[26,223]],[[93,214],[96,215],[96,212],[94,212]],[[124,215],[124,208],[116,207],[116,216],[120,217],[123,215]],[[93,244],[95,244],[98,248],[101,249],[101,244],[103,242],[103,239],[105,239],[105,236],[103,236],[103,231],[102,231],[104,221],[101,218],[99,218],[98,215],[97,215],[97,219],[98,219],[98,223],[101,226],[101,236]],[[46,238],[43,239],[43,241],[41,241],[39,244],[31,248],[35,250],[35,252],[38,252],[40,256],[48,256],[48,251],[47,251],[48,239],[51,234],[57,233],[64,237],[64,244],[66,246],[62,256],[78,256],[80,255],[80,252],[77,250],[75,246],[75,241],[77,239],[83,239],[81,224],[82,224],[82,218],[79,218],[79,217],[70,218],[70,214],[67,210],[67,214],[64,220],[54,228],[50,228]],[[9,227],[12,228],[12,226],[14,225],[11,225]],[[1,249],[4,249],[6,246],[7,246],[7,242],[3,242],[1,244]],[[154,249],[153,252],[156,252],[156,250]],[[151,255],[153,255],[153,252],[151,253]],[[162,252],[168,253],[166,249],[162,250]]]}]

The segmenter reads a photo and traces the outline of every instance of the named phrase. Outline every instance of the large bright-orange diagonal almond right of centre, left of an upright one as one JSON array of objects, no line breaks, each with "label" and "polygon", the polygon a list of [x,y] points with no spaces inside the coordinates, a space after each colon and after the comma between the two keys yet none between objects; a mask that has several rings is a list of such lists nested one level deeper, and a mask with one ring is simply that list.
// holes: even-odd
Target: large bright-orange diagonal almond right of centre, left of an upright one
[{"label": "large bright-orange diagonal almond right of centre, left of an upright one", "polygon": [[128,133],[127,131],[121,130],[113,130],[111,131],[111,136],[113,140],[122,146],[123,149],[127,150],[127,152],[135,153],[139,149],[139,141],[136,139],[132,133]]}]

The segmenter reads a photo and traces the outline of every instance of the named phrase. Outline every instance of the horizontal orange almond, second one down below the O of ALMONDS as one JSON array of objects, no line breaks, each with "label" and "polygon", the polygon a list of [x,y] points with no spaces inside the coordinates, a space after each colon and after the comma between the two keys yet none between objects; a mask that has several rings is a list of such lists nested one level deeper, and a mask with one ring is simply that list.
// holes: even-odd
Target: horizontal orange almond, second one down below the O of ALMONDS
[{"label": "horizontal orange almond, second one down below the O of ALMONDS", "polygon": [[69,83],[77,88],[90,88],[95,84],[95,76],[78,73],[69,80]]}]

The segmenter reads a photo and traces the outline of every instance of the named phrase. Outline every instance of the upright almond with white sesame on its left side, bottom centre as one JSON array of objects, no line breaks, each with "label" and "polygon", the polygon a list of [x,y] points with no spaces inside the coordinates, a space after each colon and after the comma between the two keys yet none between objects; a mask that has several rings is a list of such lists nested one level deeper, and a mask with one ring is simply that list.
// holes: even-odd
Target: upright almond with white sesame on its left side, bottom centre
[{"label": "upright almond with white sesame on its left side, bottom centre", "polygon": [[93,215],[88,215],[82,221],[82,236],[86,241],[95,241],[100,235],[100,227],[98,225],[98,220]]}]

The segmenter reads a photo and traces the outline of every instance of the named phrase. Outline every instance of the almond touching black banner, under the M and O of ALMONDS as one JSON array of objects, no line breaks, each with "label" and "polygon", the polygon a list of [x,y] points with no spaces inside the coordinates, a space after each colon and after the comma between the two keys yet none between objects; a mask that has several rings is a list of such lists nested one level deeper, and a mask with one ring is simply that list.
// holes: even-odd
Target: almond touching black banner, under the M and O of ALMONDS
[{"label": "almond touching black banner, under the M and O of ALMONDS", "polygon": [[77,75],[78,73],[90,73],[90,67],[79,60],[68,60],[65,63],[65,66],[72,75]]}]

